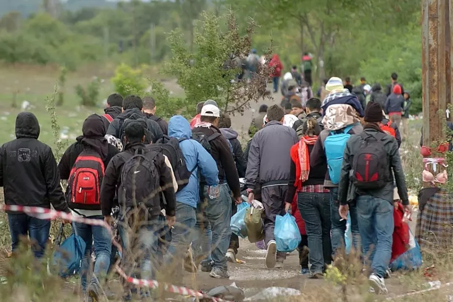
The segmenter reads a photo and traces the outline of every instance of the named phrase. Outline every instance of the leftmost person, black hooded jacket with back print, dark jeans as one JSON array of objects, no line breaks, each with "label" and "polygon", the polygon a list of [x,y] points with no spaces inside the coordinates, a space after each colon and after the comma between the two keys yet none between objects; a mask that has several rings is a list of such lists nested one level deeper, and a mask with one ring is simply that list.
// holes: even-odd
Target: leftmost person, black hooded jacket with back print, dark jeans
[{"label": "leftmost person, black hooded jacket with back print, dark jeans", "polygon": [[[60,186],[60,175],[52,149],[38,140],[39,122],[31,112],[21,112],[16,118],[16,139],[0,147],[0,186],[6,205],[37,206],[69,212]],[[50,220],[38,219],[25,213],[9,212],[13,252],[20,238],[29,236],[36,258],[42,258],[49,238]]]}]

